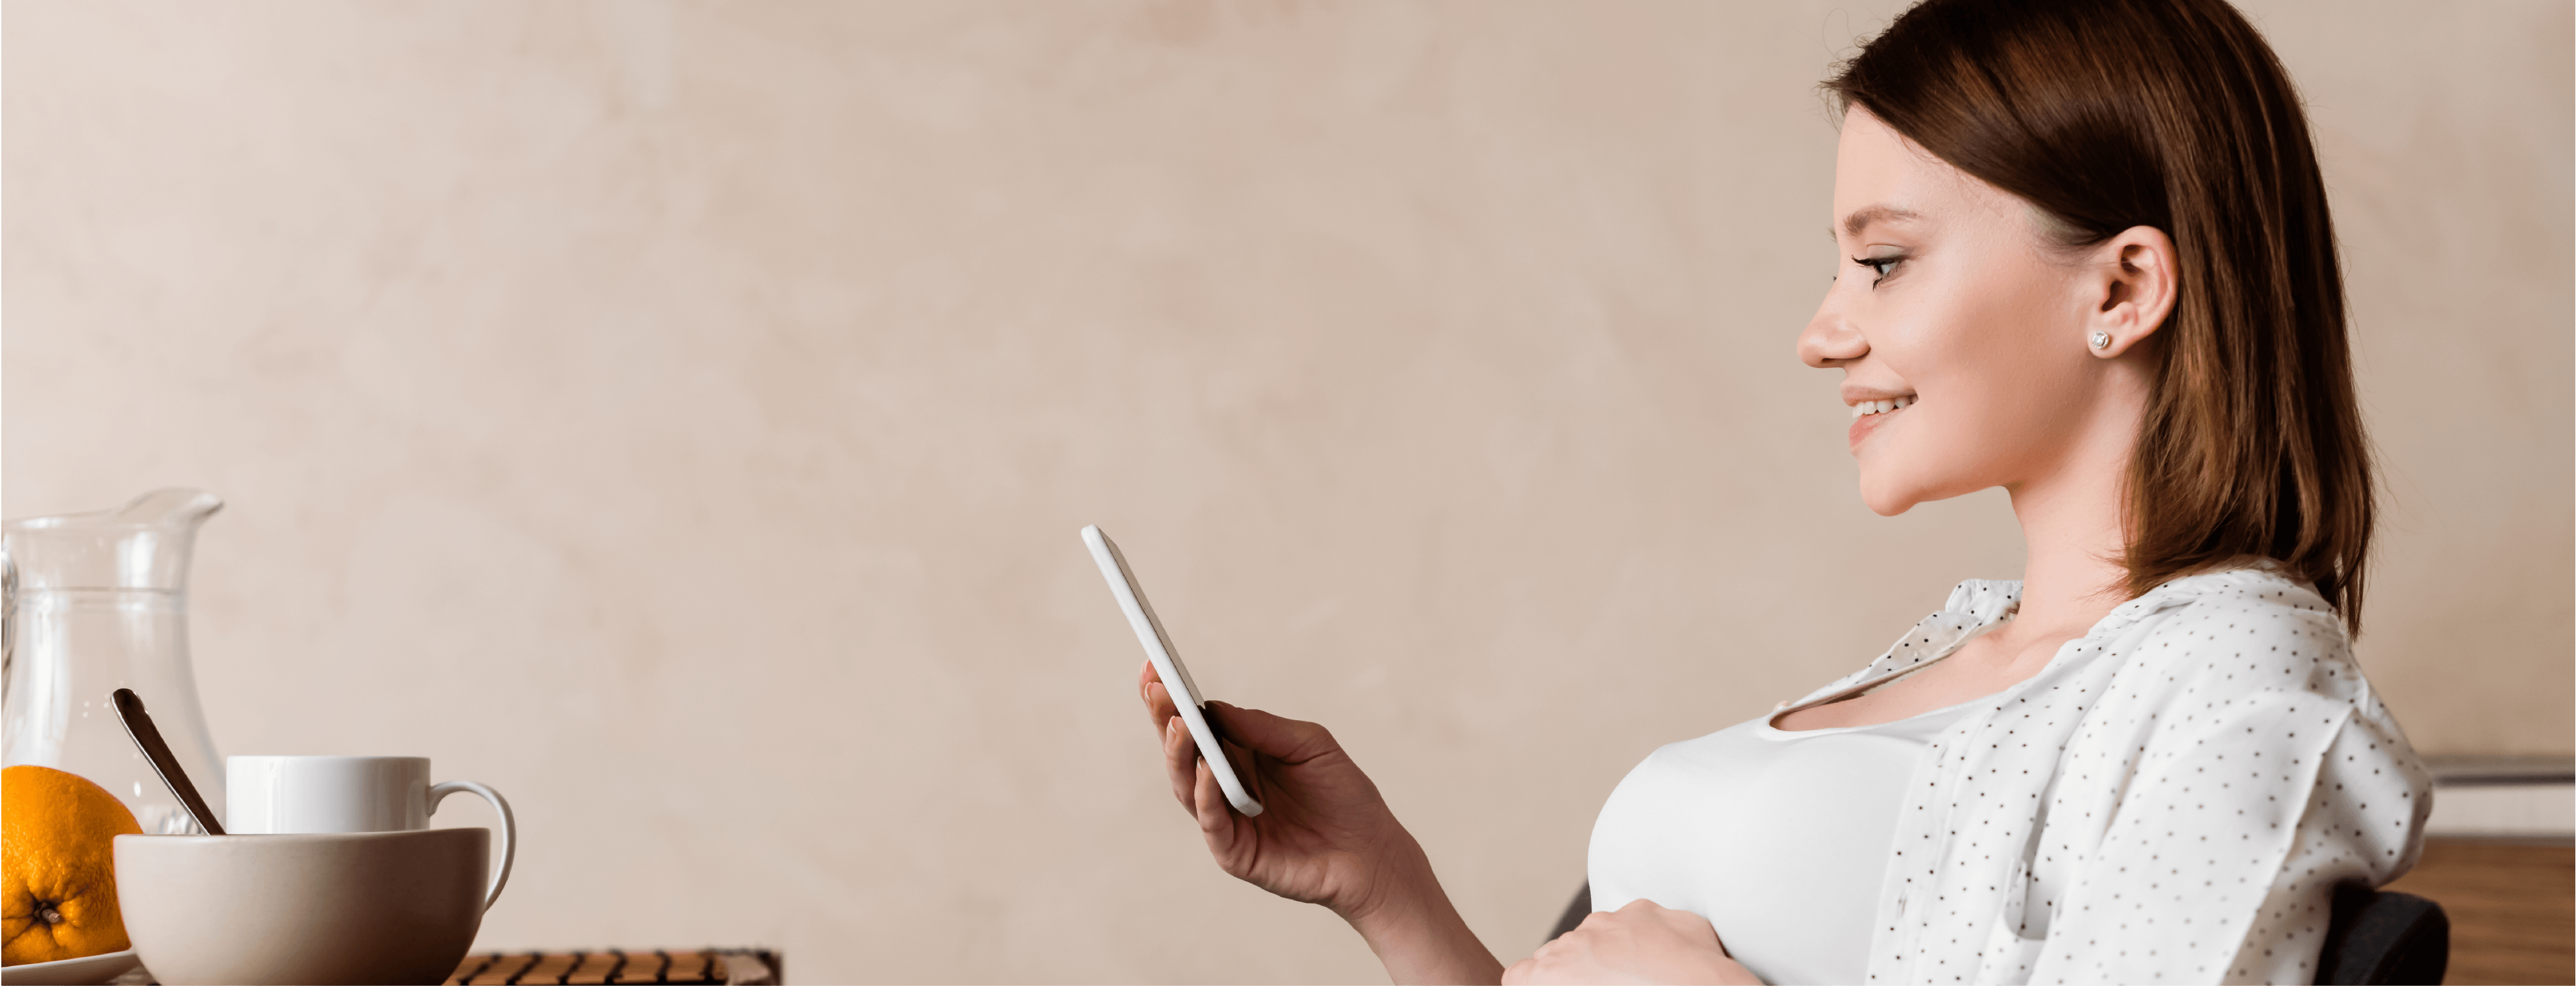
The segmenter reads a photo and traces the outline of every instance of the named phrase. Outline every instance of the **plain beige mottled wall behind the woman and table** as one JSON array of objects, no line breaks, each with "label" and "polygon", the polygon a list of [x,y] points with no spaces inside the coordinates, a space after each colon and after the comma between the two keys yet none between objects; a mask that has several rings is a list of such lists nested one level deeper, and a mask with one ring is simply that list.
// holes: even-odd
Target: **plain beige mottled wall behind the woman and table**
[{"label": "plain beige mottled wall behind the woman and table", "polygon": [[[13,0],[5,512],[222,492],[216,739],[510,793],[484,947],[1376,976],[1170,803],[1100,523],[1525,955],[1628,765],[2020,569],[1999,494],[1862,510],[1790,353],[1811,85],[1893,8]],[[2251,10],[2385,453],[2365,667],[2568,752],[2571,8]]]}]

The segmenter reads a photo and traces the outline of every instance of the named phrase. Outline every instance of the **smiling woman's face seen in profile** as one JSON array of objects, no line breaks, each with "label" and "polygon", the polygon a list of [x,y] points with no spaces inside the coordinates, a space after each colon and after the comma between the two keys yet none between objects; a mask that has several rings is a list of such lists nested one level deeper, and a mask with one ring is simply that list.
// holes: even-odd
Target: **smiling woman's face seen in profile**
[{"label": "smiling woman's face seen in profile", "polygon": [[1834,286],[1798,358],[1842,368],[1842,404],[1862,412],[1852,456],[1870,510],[2017,492],[2079,456],[2110,363],[2087,337],[2110,299],[2087,291],[2102,278],[2048,245],[2022,198],[1852,106],[1834,245]]}]

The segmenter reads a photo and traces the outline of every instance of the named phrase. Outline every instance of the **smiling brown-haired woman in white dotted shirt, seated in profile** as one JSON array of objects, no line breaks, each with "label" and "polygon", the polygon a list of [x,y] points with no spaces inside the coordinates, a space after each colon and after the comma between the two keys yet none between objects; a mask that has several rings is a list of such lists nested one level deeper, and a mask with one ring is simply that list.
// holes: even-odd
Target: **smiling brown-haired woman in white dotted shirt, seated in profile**
[{"label": "smiling brown-haired woman in white dotted shirt, seated in profile", "polygon": [[1654,752],[1600,911],[1510,971],[1321,726],[1218,705],[1244,819],[1149,669],[1172,793],[1396,981],[2311,981],[2429,783],[2349,654],[2370,463],[2290,80],[2223,0],[1929,0],[1826,90],[1847,260],[1798,355],[1870,510],[2004,487],[2025,579]]}]

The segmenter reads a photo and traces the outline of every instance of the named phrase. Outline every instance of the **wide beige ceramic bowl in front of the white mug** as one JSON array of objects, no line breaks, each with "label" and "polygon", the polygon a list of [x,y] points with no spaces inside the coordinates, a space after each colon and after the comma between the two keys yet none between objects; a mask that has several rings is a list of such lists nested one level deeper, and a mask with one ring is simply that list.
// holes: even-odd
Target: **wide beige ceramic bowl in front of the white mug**
[{"label": "wide beige ceramic bowl in front of the white mug", "polygon": [[482,927],[489,829],[116,837],[144,968],[193,983],[443,983]]}]

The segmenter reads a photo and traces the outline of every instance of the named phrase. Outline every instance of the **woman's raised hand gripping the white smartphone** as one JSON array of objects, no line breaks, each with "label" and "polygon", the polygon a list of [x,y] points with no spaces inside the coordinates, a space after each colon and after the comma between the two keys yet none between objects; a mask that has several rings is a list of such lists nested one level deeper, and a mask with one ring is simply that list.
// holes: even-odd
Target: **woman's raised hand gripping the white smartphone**
[{"label": "woman's raised hand gripping the white smartphone", "polygon": [[1198,757],[1154,662],[1144,664],[1136,690],[1162,736],[1172,798],[1198,819],[1198,834],[1221,870],[1291,901],[1329,906],[1352,924],[1419,893],[1414,883],[1430,878],[1430,860],[1324,726],[1257,708],[1206,705],[1218,718],[1226,759],[1262,803],[1262,814],[1247,819],[1226,803]]}]

